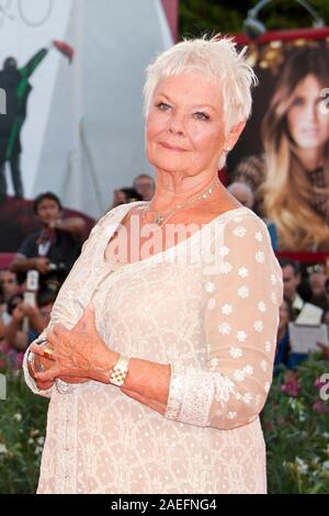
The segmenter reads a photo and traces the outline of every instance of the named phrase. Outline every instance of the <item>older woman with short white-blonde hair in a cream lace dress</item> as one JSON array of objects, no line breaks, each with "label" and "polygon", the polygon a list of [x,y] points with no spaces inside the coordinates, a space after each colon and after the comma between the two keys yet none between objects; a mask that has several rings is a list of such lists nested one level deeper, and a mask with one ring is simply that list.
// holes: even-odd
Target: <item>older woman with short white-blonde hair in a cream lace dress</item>
[{"label": "older woman with short white-blonde hair in a cream lace dress", "polygon": [[263,222],[217,180],[253,81],[228,38],[149,66],[155,195],[99,221],[25,360],[52,397],[39,493],[266,491],[281,268]]}]

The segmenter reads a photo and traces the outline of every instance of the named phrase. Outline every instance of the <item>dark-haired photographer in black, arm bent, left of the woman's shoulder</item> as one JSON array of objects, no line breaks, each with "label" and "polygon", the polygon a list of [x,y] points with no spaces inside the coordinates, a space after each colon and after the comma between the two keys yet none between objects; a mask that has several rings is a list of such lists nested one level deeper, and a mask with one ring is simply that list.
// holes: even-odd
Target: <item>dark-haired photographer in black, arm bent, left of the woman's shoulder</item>
[{"label": "dark-haired photographer in black, arm bent, left of the woman's shoulder", "polygon": [[57,292],[80,254],[86,223],[80,217],[63,218],[61,203],[52,192],[39,194],[33,207],[43,228],[25,238],[11,269],[23,281],[22,273],[35,269],[41,287]]}]

